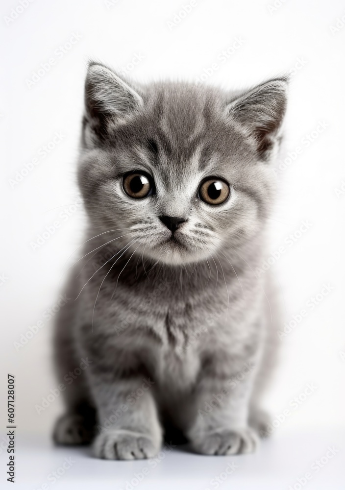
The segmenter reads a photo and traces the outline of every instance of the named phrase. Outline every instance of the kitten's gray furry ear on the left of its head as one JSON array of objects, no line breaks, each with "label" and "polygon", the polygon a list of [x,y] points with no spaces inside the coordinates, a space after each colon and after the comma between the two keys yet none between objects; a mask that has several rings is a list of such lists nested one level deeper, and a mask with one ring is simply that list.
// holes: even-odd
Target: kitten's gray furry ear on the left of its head
[{"label": "kitten's gray furry ear on the left of its head", "polygon": [[89,64],[85,80],[86,117],[97,120],[99,130],[109,120],[120,122],[142,104],[139,93],[122,77],[99,63]]}]

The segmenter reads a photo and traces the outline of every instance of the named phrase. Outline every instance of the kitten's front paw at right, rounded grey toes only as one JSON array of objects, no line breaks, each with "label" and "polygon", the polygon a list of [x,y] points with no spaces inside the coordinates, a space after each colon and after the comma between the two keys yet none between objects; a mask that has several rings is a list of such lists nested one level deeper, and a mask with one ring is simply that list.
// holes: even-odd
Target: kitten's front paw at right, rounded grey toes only
[{"label": "kitten's front paw at right, rounded grey toes only", "polygon": [[214,455],[252,453],[257,443],[258,438],[249,427],[236,430],[223,429],[200,435],[192,441],[198,453]]}]

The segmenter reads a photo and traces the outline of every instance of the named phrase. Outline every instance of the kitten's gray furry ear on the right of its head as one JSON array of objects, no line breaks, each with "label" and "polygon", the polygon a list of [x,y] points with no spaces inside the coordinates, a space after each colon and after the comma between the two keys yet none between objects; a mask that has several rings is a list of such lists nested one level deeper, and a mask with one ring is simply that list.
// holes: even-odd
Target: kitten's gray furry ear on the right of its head
[{"label": "kitten's gray furry ear on the right of its head", "polygon": [[226,106],[226,115],[253,138],[259,157],[267,160],[279,136],[287,104],[288,78],[269,80]]}]

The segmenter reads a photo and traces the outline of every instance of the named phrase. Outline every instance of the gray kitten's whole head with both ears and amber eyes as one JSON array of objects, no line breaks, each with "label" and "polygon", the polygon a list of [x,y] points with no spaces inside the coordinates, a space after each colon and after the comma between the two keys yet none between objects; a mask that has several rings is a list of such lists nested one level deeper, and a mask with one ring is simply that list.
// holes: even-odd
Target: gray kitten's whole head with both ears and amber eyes
[{"label": "gray kitten's whole head with both ears and amber eyes", "polygon": [[245,244],[269,210],[286,92],[134,86],[91,63],[78,176],[95,230],[169,264]]}]

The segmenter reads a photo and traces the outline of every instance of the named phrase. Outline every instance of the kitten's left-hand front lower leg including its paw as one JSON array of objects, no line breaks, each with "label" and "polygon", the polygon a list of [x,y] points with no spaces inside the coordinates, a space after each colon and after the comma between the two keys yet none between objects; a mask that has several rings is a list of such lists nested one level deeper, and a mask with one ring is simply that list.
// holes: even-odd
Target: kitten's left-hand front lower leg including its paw
[{"label": "kitten's left-hand front lower leg including its paw", "polygon": [[151,380],[135,368],[131,374],[114,375],[109,365],[101,364],[88,374],[99,416],[95,455],[121,460],[155,456],[161,447],[162,429]]}]

